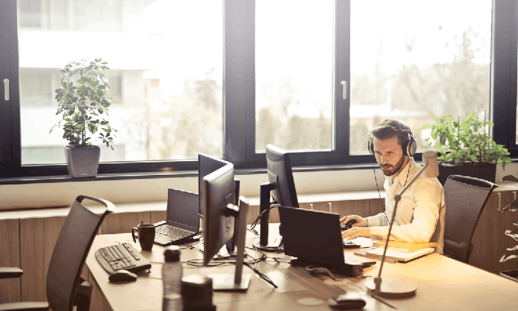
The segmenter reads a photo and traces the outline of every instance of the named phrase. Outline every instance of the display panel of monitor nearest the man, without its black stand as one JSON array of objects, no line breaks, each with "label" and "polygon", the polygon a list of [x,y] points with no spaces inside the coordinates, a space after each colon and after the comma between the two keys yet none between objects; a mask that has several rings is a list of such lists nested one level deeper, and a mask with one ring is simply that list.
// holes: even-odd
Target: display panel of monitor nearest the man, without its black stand
[{"label": "display panel of monitor nearest the man, without its black stand", "polygon": [[266,146],[266,160],[268,180],[274,185],[274,190],[271,191],[274,200],[282,206],[298,207],[289,153],[268,144]]}]

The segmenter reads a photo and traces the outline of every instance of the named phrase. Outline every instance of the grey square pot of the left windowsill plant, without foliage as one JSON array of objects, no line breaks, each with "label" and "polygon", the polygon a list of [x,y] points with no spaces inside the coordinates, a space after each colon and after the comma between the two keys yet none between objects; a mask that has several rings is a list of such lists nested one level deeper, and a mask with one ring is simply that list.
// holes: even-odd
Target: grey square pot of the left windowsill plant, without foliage
[{"label": "grey square pot of the left windowsill plant, without foliage", "polygon": [[99,168],[99,146],[65,147],[66,168],[72,177],[97,176]]}]

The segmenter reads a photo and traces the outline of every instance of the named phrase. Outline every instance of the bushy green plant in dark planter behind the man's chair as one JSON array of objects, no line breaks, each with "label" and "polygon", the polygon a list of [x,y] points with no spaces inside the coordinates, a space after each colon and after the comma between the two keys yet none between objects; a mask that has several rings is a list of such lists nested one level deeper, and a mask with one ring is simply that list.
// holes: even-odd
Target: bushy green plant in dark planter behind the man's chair
[{"label": "bushy green plant in dark planter behind the man's chair", "polygon": [[434,117],[434,120],[437,124],[425,124],[421,129],[432,129],[430,138],[425,141],[436,142],[440,155],[437,159],[441,164],[437,178],[442,185],[452,174],[495,182],[497,164],[506,169],[509,152],[486,134],[486,124],[494,126],[492,122],[480,122],[474,113],[462,122],[454,122],[451,115]]}]

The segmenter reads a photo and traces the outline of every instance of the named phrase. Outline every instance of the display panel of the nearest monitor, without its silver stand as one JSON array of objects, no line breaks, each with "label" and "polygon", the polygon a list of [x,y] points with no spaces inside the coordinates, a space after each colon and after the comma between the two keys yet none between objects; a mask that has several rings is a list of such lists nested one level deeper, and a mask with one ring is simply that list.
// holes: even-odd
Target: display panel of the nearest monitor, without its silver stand
[{"label": "display panel of the nearest monitor, without its silver stand", "polygon": [[207,265],[233,236],[235,218],[226,214],[227,205],[236,202],[233,164],[205,176],[200,195],[204,212],[203,263]]}]

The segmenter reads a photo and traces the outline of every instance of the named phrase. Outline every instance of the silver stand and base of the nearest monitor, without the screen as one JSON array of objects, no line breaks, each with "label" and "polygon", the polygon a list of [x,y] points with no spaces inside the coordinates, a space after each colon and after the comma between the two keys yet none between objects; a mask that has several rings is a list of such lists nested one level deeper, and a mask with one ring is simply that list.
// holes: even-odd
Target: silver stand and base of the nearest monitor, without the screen
[{"label": "silver stand and base of the nearest monitor, without the screen", "polygon": [[[247,219],[249,203],[244,197],[240,197],[240,219]],[[247,223],[242,221],[238,226],[238,243],[236,254],[236,272],[234,274],[209,274],[212,279],[213,290],[247,290],[250,284],[251,274],[243,274],[244,238],[247,235]]]}]

